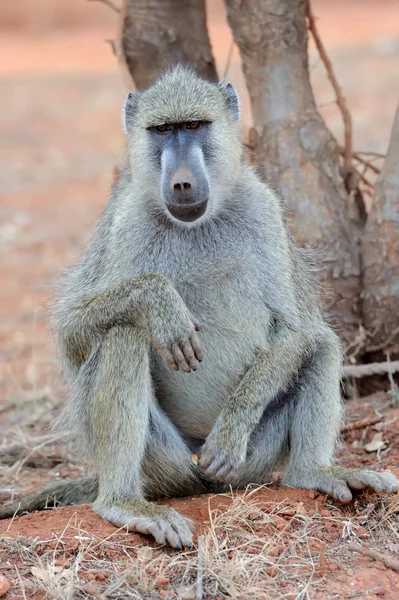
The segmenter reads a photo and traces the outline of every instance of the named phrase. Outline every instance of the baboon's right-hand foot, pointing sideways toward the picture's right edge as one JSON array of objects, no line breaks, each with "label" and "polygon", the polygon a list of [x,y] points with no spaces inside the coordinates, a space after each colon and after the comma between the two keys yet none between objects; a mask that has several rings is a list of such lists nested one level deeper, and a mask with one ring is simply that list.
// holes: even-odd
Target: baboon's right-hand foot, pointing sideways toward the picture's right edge
[{"label": "baboon's right-hand foot, pointing sideways toward the picture's right edge", "polygon": [[377,473],[369,469],[349,467],[320,467],[305,476],[288,475],[283,485],[315,489],[332,496],[342,504],[352,500],[353,490],[370,488],[375,492],[395,494],[399,489],[399,481],[393,473],[385,471]]}]

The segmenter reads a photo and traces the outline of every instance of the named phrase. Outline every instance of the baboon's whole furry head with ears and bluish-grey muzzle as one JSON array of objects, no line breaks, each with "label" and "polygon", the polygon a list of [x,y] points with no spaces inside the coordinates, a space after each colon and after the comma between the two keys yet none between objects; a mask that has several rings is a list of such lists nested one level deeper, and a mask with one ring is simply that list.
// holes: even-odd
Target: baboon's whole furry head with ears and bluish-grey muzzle
[{"label": "baboon's whole furry head with ears and bluish-grey muzzle", "polygon": [[238,118],[231,84],[210,83],[182,66],[131,92],[124,125],[132,176],[145,182],[147,201],[185,224],[215,214],[241,167]]}]

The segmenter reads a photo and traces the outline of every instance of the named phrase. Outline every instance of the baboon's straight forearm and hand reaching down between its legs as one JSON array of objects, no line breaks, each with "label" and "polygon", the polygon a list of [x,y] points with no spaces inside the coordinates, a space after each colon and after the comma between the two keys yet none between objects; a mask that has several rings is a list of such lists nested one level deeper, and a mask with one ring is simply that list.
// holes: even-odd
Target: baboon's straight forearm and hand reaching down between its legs
[{"label": "baboon's straight forearm and hand reaching down between its legs", "polygon": [[303,335],[281,325],[269,346],[258,351],[201,450],[199,465],[208,476],[227,482],[233,478],[265,408],[288,387],[310,347]]}]

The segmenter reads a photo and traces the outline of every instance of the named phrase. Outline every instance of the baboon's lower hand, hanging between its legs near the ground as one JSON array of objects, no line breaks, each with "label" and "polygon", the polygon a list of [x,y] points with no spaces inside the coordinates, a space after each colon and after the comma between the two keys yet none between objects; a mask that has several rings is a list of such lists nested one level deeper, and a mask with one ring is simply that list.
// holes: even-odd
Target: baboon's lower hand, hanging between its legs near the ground
[{"label": "baboon's lower hand, hanging between its legs near the ground", "polygon": [[248,439],[232,435],[228,428],[214,427],[199,454],[198,466],[207,477],[233,483],[245,464]]}]

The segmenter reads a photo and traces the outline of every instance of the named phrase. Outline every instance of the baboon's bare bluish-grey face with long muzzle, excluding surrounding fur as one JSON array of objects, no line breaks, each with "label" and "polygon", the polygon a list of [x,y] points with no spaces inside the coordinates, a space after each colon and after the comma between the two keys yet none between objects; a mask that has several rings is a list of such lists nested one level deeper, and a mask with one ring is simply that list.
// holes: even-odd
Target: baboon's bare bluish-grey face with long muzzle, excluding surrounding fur
[{"label": "baboon's bare bluish-grey face with long muzzle, excluding surrounding fur", "polygon": [[211,123],[187,121],[150,127],[151,147],[160,168],[160,191],[169,213],[179,221],[202,217],[209,200],[205,165]]}]

